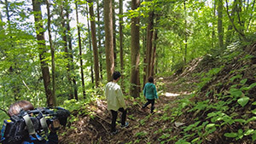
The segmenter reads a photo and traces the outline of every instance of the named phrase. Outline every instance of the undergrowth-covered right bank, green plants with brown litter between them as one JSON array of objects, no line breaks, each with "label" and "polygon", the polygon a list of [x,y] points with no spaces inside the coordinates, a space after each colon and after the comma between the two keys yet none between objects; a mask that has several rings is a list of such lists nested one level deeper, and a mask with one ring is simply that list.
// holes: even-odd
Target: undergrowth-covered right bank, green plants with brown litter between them
[{"label": "undergrowth-covered right bank, green plants with brown litter between them", "polygon": [[201,80],[194,94],[178,100],[177,107],[166,106],[160,120],[184,125],[168,129],[169,134],[160,131],[161,143],[255,142],[256,77],[245,74],[253,55],[240,52],[236,49],[219,57],[220,66],[196,74]]}]

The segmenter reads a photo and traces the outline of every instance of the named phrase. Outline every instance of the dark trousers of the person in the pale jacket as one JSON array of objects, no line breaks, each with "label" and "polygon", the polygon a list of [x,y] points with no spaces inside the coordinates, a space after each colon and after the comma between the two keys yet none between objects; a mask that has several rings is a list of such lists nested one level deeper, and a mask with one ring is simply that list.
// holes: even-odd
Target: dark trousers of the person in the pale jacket
[{"label": "dark trousers of the person in the pale jacket", "polygon": [[[121,124],[125,125],[127,111],[123,107],[121,107],[121,108],[119,108],[119,112],[122,112]],[[116,125],[115,122],[116,122],[116,118],[118,116],[118,112],[111,110],[111,113],[112,113],[111,132],[113,132],[113,131],[115,131],[115,125]]]}]

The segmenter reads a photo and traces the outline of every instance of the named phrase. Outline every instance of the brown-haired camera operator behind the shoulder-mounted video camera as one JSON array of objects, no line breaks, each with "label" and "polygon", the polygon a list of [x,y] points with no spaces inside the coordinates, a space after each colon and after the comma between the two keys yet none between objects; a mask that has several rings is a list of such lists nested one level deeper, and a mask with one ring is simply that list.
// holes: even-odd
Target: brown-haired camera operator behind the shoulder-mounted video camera
[{"label": "brown-haired camera operator behind the shoulder-mounted video camera", "polygon": [[[29,110],[33,110],[34,107],[32,106],[32,103],[29,101],[16,101],[14,104],[12,104],[9,107],[9,117],[18,115],[20,113],[21,110],[23,111],[29,111]],[[38,140],[38,137],[40,137],[40,135],[35,134],[35,135],[29,135],[26,137],[26,139],[24,141],[22,141],[22,144],[57,144],[58,143],[58,135],[56,134],[56,131],[51,129],[51,128],[55,128],[57,126],[60,125],[60,122],[58,120],[53,122],[53,125],[49,125],[49,135],[48,135],[48,141],[46,140]]]}]

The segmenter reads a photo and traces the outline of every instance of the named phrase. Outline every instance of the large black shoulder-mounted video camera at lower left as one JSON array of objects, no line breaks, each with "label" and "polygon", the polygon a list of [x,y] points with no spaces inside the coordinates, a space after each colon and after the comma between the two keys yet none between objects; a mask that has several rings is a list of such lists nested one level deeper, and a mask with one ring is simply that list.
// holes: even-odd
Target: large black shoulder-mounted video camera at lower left
[{"label": "large black shoulder-mounted video camera at lower left", "polygon": [[70,112],[62,107],[44,107],[31,111],[21,110],[19,115],[3,121],[0,143],[20,144],[29,135],[34,135],[39,141],[48,135],[48,128],[58,130],[60,125],[66,126]]}]

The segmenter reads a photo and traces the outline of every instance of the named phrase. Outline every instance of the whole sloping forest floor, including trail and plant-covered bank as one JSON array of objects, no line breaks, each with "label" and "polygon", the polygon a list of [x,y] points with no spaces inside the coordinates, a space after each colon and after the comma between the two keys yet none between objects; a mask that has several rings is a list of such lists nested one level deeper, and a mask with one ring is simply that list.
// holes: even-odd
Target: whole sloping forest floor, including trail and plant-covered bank
[{"label": "whole sloping forest floor, including trail and plant-covered bank", "polygon": [[109,135],[106,101],[74,111],[78,120],[61,130],[60,143],[253,143],[256,43],[234,44],[221,54],[192,60],[183,72],[159,77],[154,114],[140,109],[143,98],[127,100],[130,126],[117,135]]}]

